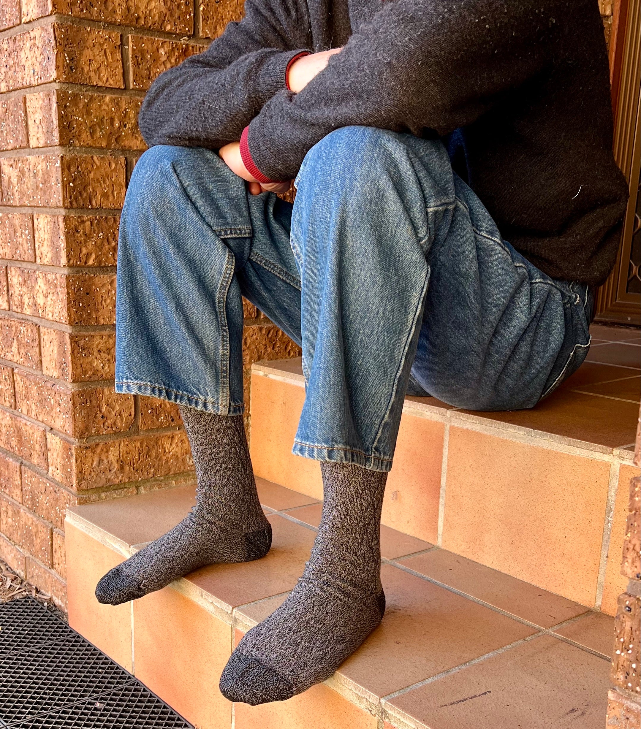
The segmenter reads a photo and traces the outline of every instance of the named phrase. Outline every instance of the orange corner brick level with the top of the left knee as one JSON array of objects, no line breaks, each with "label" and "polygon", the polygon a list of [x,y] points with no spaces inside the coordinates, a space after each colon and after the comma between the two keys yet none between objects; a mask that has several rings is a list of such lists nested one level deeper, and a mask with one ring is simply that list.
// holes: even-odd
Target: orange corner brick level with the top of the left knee
[{"label": "orange corner brick level with the top of the left knee", "polygon": [[121,208],[125,159],[31,155],[0,160],[2,203],[55,208]]}]

